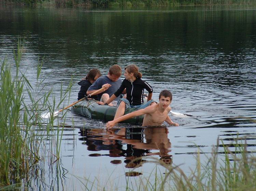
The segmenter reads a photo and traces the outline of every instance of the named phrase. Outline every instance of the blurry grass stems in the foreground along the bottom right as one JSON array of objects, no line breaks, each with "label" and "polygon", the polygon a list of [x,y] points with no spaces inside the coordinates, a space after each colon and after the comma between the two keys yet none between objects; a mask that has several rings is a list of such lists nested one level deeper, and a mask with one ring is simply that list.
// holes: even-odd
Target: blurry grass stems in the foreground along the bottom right
[{"label": "blurry grass stems in the foreground along the bottom right", "polygon": [[[200,159],[200,149],[195,155],[195,169],[191,172],[184,172],[182,164],[174,165],[166,163],[152,156],[142,157],[144,164],[153,163],[155,168],[151,173],[143,173],[143,176],[132,177],[138,174],[136,167],[131,170],[131,176],[126,176],[126,185],[118,186],[113,184],[111,173],[108,184],[103,184],[101,178],[78,178],[83,190],[137,190],[137,191],[231,191],[231,190],[256,190],[256,157],[253,152],[247,151],[246,141],[238,143],[237,138],[232,144],[232,151],[229,145],[219,144],[213,146],[212,153],[207,155],[206,161]],[[219,148],[223,148],[219,151]],[[141,157],[134,159],[141,160]],[[141,164],[138,164],[141,166]],[[159,167],[164,167],[165,170]],[[125,173],[126,175],[129,173]],[[141,173],[142,174],[142,173]],[[148,174],[148,176],[146,175]],[[144,176],[146,175],[146,176]]]}]

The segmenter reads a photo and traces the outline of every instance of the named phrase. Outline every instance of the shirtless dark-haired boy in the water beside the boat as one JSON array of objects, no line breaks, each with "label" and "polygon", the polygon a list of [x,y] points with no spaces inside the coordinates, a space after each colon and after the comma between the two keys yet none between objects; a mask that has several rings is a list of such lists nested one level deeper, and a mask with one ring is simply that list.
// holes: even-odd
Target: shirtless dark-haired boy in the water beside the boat
[{"label": "shirtless dark-haired boy in the water beside the boat", "polygon": [[171,107],[169,106],[171,101],[172,93],[168,90],[162,90],[159,94],[159,103],[109,121],[106,123],[106,128],[112,128],[116,123],[144,114],[142,126],[160,126],[164,121],[169,125],[179,126],[179,124],[173,123],[168,116],[168,113],[171,111]]}]

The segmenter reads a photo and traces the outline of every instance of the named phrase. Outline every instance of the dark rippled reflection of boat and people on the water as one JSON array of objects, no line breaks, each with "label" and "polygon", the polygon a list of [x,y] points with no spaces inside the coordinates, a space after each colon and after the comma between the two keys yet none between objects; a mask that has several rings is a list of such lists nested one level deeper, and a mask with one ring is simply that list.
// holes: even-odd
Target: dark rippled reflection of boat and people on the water
[{"label": "dark rippled reflection of boat and people on the water", "polygon": [[[124,157],[126,168],[142,166],[143,156],[158,155],[160,160],[171,163],[171,143],[168,139],[167,127],[121,128],[117,129],[87,129],[80,128],[82,144],[88,151],[108,151],[109,154],[89,154],[91,157],[109,156]],[[158,152],[151,152],[158,150]],[[120,164],[121,160],[111,160],[112,164]]]}]

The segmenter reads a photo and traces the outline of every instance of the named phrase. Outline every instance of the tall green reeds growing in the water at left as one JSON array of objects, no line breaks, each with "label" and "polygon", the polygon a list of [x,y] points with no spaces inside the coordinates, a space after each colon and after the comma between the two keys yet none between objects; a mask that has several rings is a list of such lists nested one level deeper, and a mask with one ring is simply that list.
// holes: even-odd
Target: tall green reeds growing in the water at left
[{"label": "tall green reeds growing in the water at left", "polygon": [[[57,122],[53,115],[41,119],[41,113],[53,114],[56,108],[65,105],[72,86],[71,80],[66,90],[61,87],[60,103],[56,104],[52,90],[44,91],[46,79],[40,77],[42,62],[38,64],[34,86],[19,71],[22,50],[19,40],[13,53],[15,67],[5,58],[0,71],[0,187],[4,186],[1,189],[9,189],[7,185],[11,184],[12,188],[17,187],[22,179],[29,178],[38,161],[45,160],[46,152],[50,155],[49,162],[59,159],[66,111]],[[45,144],[48,140],[51,140],[49,147]]]}]

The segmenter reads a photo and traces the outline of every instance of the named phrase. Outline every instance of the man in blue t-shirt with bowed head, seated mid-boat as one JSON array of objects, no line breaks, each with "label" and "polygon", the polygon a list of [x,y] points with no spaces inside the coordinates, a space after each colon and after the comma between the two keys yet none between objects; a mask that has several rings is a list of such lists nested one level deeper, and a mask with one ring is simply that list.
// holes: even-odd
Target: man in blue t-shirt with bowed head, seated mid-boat
[{"label": "man in blue t-shirt with bowed head, seated mid-boat", "polygon": [[[98,89],[105,87],[102,91],[98,92],[98,100],[101,100],[102,102],[106,102],[109,97],[116,92],[116,90],[120,87],[122,84],[122,80],[119,79],[119,77],[122,74],[122,69],[118,65],[113,65],[109,69],[109,73],[106,76],[99,77],[93,85],[91,85],[87,90],[87,95],[91,94]],[[116,99],[116,101],[119,100],[119,97]]]}]

